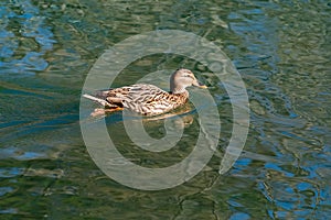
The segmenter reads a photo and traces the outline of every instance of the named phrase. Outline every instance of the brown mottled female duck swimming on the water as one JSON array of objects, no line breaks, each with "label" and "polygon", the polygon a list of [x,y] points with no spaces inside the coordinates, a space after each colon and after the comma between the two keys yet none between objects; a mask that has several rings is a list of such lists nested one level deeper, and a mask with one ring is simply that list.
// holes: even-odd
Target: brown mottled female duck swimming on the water
[{"label": "brown mottled female duck swimming on the water", "polygon": [[188,101],[186,87],[206,88],[199,82],[189,69],[178,69],[170,77],[170,92],[153,85],[135,84],[106,91],[96,97],[84,95],[85,98],[99,102],[105,111],[111,112],[128,109],[143,116],[157,116],[169,112]]}]

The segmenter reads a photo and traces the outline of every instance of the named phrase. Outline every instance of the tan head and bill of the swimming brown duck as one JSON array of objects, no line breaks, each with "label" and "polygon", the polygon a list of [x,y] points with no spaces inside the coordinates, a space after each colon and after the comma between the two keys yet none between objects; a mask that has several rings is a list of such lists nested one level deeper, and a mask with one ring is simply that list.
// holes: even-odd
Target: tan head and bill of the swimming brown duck
[{"label": "tan head and bill of the swimming brown duck", "polygon": [[186,91],[186,87],[196,86],[199,88],[207,88],[197,81],[194,74],[184,68],[177,69],[170,77],[170,91],[172,94],[182,94]]}]

